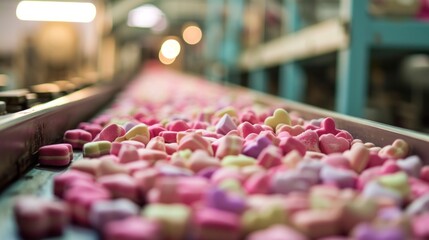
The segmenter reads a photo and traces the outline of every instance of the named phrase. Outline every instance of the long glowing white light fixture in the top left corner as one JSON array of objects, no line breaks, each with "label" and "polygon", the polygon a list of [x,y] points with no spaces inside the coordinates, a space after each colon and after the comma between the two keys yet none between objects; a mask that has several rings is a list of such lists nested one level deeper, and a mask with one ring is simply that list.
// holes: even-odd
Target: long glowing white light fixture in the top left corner
[{"label": "long glowing white light fixture in the top left corner", "polygon": [[23,21],[92,22],[97,10],[88,2],[21,1],[16,17]]}]

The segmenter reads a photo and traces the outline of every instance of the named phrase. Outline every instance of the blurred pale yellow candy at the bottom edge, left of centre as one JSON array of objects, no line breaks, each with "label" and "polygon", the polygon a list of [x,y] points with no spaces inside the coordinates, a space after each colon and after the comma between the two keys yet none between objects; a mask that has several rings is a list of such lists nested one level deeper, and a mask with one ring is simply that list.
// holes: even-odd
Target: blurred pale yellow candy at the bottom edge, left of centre
[{"label": "blurred pale yellow candy at the bottom edge, left of centre", "polygon": [[184,239],[191,211],[182,204],[150,204],[143,216],[161,224],[162,239]]}]

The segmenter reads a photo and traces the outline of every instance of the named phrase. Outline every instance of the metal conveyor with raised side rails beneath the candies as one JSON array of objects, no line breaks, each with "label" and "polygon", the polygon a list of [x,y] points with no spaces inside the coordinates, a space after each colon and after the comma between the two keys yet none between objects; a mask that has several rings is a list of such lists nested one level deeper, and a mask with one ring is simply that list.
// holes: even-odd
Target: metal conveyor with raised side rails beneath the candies
[{"label": "metal conveyor with raised side rails beneath the candies", "polygon": [[[162,77],[159,79],[159,81],[164,80]],[[185,91],[195,91],[191,86],[195,84],[195,81],[199,82],[201,80],[191,76],[186,76],[186,78],[182,76],[180,81],[175,82],[174,85]],[[171,82],[168,83],[166,80],[165,83],[171,85]],[[213,88],[219,88],[214,83],[207,82],[204,84],[213,84]],[[94,116],[118,89],[117,86],[85,89],[34,109],[0,118],[0,139],[2,141],[0,144],[0,152],[2,153],[0,186],[4,187],[11,180],[25,172],[28,166],[32,166],[35,161],[34,154],[41,145],[58,141],[66,129],[73,128],[79,121],[87,120]],[[338,127],[348,130],[354,137],[371,141],[379,146],[390,144],[393,140],[402,138],[410,143],[414,154],[418,154],[426,163],[429,162],[428,135],[344,116],[270,95],[252,92],[237,86],[229,86],[224,91],[227,91],[225,94],[230,94],[232,98],[250,96],[254,98],[255,102],[263,105],[282,106],[288,110],[298,111],[306,119],[331,116],[336,120]],[[153,97],[160,96],[153,95]],[[76,153],[75,158],[81,158],[81,154]],[[32,194],[52,197],[52,177],[63,170],[33,168],[19,181],[13,183],[2,192],[0,196],[0,208],[3,209],[0,213],[0,235],[2,239],[14,239],[17,237],[12,218],[12,200],[14,196]],[[96,239],[97,236],[87,229],[70,226],[65,238]]]}]

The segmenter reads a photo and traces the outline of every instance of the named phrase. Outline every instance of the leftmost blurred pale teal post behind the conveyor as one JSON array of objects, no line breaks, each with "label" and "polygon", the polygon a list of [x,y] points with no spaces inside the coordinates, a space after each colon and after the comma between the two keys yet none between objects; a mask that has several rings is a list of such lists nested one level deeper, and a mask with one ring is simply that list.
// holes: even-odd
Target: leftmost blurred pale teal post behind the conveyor
[{"label": "leftmost blurred pale teal post behind the conveyor", "polygon": [[221,76],[215,68],[219,64],[221,52],[221,43],[223,39],[222,11],[223,0],[207,0],[207,14],[204,29],[204,58],[205,75],[207,79],[220,81]]}]

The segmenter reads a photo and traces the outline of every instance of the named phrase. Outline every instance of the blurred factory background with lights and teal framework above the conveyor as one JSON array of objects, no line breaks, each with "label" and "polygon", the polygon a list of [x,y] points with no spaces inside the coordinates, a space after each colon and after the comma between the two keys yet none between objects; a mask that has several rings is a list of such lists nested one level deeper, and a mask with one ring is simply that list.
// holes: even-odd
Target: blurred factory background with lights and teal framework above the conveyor
[{"label": "blurred factory background with lights and teal framework above the conveyor", "polygon": [[429,0],[7,0],[0,29],[9,113],[152,60],[429,132]]}]

